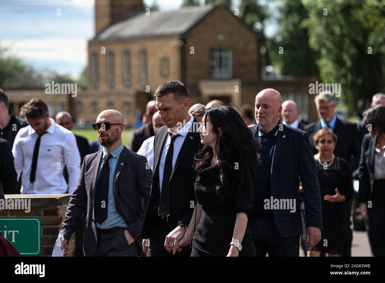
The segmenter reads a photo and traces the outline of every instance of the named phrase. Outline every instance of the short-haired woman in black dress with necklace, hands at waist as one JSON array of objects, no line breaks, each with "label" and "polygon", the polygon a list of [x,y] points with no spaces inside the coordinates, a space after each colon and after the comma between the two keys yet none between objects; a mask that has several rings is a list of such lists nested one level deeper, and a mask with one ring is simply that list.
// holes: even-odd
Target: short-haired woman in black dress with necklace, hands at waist
[{"label": "short-haired woman in black dress with necklace, hands at waist", "polygon": [[345,160],[334,156],[337,136],[330,128],[318,131],[313,141],[318,149],[314,159],[321,189],[323,230],[321,241],[308,251],[308,256],[320,256],[321,251],[326,256],[338,256],[343,224],[342,203],[352,198],[352,172]]}]

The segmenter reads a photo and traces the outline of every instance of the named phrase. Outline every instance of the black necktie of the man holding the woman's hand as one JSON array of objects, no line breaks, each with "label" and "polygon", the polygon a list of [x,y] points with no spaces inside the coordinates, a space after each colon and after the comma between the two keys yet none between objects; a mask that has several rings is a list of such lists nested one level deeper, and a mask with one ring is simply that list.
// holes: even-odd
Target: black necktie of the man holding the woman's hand
[{"label": "black necktie of the man holding the woman's hand", "polygon": [[178,136],[180,136],[180,134],[172,136],[172,133],[169,132],[169,135],[171,136],[171,142],[166,154],[166,161],[164,161],[162,192],[159,202],[159,216],[161,216],[162,219],[166,218],[166,216],[169,214],[168,185],[172,173],[172,154],[174,153],[174,141]]}]

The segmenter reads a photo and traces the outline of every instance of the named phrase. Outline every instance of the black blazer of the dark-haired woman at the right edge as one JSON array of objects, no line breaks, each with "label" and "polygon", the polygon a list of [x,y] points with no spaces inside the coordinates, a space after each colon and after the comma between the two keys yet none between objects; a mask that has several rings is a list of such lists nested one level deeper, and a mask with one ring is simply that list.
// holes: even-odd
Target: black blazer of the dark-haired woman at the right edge
[{"label": "black blazer of the dark-haired woman at the right edge", "polygon": [[368,203],[372,200],[374,183],[374,156],[377,136],[366,134],[362,141],[359,167],[358,203]]}]

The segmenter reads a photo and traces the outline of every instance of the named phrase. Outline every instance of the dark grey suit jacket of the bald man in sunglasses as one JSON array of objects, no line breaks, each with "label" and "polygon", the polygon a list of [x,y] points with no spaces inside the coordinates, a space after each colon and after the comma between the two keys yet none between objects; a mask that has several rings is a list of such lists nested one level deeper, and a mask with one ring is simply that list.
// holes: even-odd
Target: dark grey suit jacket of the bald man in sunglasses
[{"label": "dark grey suit jacket of the bald man in sunglasses", "polygon": [[[85,256],[95,255],[97,249],[94,196],[102,156],[103,151],[85,156],[77,188],[70,198],[67,212],[65,213],[65,220],[60,230],[64,238],[69,241],[79,224],[85,206],[87,206],[83,242]],[[139,254],[141,254],[142,250],[140,234],[151,190],[151,176],[152,171],[147,166],[146,157],[124,147],[119,156],[114,174],[114,199],[117,212],[128,225],[127,231],[136,240]]]}]

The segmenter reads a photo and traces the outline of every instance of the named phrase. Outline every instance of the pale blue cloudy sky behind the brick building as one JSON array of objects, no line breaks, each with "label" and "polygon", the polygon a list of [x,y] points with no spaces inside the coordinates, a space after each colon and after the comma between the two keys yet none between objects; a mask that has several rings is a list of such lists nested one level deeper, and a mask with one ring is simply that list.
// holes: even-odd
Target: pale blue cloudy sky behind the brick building
[{"label": "pale blue cloudy sky behind the brick building", "polygon": [[[174,10],[182,0],[157,3],[161,10]],[[76,78],[87,65],[87,40],[95,33],[94,0],[0,0],[0,18],[0,46],[33,67]]]}]

